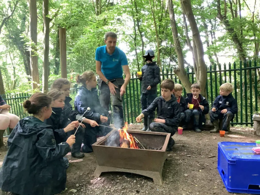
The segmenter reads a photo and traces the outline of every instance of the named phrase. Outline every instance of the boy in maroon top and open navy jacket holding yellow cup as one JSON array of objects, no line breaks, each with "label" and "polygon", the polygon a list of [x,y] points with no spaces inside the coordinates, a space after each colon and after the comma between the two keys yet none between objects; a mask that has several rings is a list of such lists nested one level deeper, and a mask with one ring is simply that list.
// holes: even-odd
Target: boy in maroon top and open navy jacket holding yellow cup
[{"label": "boy in maroon top and open navy jacket holding yellow cup", "polygon": [[[209,103],[206,98],[200,94],[200,92],[200,85],[198,83],[193,83],[191,85],[191,93],[187,93],[185,107],[185,122],[188,124],[191,121],[191,118],[193,118],[193,126],[195,132],[197,133],[201,132],[200,129],[202,127],[202,123],[206,122],[205,114],[209,113]],[[193,106],[192,109],[190,109],[191,106]]]}]

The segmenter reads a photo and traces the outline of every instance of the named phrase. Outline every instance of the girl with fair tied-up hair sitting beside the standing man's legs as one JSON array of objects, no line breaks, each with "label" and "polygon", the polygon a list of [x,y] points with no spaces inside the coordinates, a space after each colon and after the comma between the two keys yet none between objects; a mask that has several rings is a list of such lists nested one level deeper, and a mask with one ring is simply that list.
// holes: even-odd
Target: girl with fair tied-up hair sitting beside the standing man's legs
[{"label": "girl with fair tied-up hair sitting beside the standing man's legs", "polygon": [[[82,75],[76,76],[77,83],[81,83],[76,97],[74,106],[75,109],[88,119],[96,121],[98,124],[109,126],[108,111],[101,107],[99,96],[96,88],[96,75],[92,71],[84,72]],[[88,110],[87,108],[90,108]],[[111,128],[107,127],[91,127],[86,125],[86,131],[84,134],[82,152],[93,152],[92,144],[97,141],[97,135],[104,136],[111,131]],[[98,126],[98,125],[97,125]]]}]

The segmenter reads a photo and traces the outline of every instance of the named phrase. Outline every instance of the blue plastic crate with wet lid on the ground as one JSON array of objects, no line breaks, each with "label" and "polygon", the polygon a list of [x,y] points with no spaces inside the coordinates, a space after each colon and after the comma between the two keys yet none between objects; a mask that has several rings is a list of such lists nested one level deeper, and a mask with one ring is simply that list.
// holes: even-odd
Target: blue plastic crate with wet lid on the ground
[{"label": "blue plastic crate with wet lid on the ground", "polygon": [[218,143],[218,172],[228,192],[260,194],[260,154],[249,150],[253,147],[255,143]]}]

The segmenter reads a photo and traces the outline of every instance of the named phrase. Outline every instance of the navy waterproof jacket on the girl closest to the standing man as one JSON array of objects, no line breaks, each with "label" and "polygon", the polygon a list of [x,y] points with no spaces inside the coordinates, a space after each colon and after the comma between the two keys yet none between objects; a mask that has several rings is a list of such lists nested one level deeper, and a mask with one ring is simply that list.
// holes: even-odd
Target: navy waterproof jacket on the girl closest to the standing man
[{"label": "navy waterproof jacket on the girl closest to the standing man", "polygon": [[97,123],[100,121],[100,115],[108,115],[108,112],[101,108],[96,88],[92,88],[90,91],[86,87],[81,86],[75,97],[74,106],[75,110],[77,110],[81,115],[84,114],[89,107],[90,110],[87,110],[84,117],[94,120]]}]

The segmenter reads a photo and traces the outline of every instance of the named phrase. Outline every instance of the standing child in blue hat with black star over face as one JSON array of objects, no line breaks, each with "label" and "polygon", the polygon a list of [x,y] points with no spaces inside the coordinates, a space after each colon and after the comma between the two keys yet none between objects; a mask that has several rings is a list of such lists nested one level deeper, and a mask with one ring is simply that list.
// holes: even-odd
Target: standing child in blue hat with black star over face
[{"label": "standing child in blue hat with black star over face", "polygon": [[[157,97],[157,84],[160,83],[160,68],[157,66],[156,61],[153,61],[155,57],[153,50],[148,49],[143,57],[146,64],[141,69],[142,74],[139,75],[137,73],[136,76],[142,81],[141,105],[142,110],[145,110]],[[142,131],[150,131],[149,125],[153,122],[154,117],[154,112],[149,116],[145,116]]]}]

